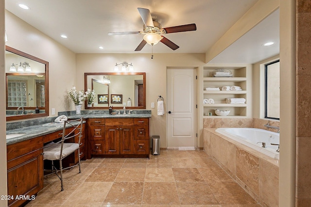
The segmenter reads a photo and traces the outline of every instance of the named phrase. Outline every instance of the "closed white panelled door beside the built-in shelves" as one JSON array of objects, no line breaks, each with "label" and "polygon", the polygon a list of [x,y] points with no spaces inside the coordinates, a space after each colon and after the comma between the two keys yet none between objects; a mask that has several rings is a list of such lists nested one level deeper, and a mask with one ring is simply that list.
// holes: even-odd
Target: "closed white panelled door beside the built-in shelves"
[{"label": "closed white panelled door beside the built-in shelves", "polygon": [[196,147],[196,70],[167,70],[168,148]]}]

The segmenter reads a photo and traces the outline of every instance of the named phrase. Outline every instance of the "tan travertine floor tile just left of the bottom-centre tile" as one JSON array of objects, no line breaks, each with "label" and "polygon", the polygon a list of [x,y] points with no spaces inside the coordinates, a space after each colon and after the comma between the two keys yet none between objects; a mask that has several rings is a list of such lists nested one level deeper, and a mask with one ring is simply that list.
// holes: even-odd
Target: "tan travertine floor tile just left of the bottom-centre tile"
[{"label": "tan travertine floor tile just left of the bottom-centre tile", "polygon": [[104,205],[134,205],[141,204],[143,182],[114,182]]}]

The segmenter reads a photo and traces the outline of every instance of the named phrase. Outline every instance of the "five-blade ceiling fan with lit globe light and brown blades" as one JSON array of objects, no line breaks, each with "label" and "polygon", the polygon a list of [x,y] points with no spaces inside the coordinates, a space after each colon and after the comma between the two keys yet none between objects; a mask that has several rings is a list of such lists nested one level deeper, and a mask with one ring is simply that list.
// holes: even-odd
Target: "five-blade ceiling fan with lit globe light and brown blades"
[{"label": "five-blade ceiling fan with lit globe light and brown blades", "polygon": [[145,8],[137,8],[138,12],[144,22],[143,32],[109,32],[108,35],[121,35],[121,34],[144,34],[144,39],[135,49],[135,51],[140,51],[147,43],[149,45],[155,45],[158,42],[162,42],[164,45],[168,46],[169,48],[175,50],[178,49],[175,43],[171,40],[167,39],[166,37],[160,34],[167,34],[167,33],[174,33],[174,32],[187,32],[187,31],[195,31],[196,25],[195,24],[186,24],[180,25],[175,27],[167,27],[162,28],[161,24],[157,22],[156,19],[153,19],[149,9]]}]

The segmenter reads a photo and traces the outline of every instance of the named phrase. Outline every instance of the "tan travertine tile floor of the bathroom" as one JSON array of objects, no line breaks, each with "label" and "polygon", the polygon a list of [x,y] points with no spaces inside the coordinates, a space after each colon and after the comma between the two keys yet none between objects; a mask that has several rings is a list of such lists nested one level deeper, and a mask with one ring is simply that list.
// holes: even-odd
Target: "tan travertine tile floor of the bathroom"
[{"label": "tan travertine tile floor of the bathroom", "polygon": [[260,207],[204,151],[147,158],[93,158],[56,175],[26,207]]}]

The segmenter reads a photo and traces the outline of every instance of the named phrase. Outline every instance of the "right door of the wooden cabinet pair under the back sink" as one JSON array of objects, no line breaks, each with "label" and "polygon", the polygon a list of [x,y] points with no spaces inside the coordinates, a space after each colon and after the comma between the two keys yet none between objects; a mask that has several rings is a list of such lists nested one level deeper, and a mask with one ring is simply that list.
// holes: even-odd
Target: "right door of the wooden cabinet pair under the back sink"
[{"label": "right door of the wooden cabinet pair under the back sink", "polygon": [[134,127],[120,126],[120,154],[134,154]]}]

